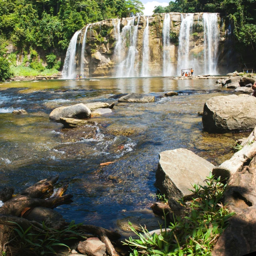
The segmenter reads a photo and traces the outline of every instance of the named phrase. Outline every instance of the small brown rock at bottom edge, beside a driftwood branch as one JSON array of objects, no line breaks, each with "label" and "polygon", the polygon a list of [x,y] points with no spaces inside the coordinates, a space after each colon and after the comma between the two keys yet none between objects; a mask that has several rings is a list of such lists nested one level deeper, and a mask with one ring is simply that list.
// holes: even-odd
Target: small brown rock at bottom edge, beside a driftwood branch
[{"label": "small brown rock at bottom edge, beside a driftwood branch", "polygon": [[104,256],[106,255],[106,245],[100,240],[86,240],[77,246],[80,253],[89,256]]}]

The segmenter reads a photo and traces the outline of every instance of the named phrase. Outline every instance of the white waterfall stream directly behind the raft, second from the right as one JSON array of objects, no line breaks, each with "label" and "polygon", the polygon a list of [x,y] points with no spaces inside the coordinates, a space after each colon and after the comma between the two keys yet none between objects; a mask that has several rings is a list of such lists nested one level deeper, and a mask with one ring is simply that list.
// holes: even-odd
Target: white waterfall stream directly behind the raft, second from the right
[{"label": "white waterfall stream directly behind the raft, second from the right", "polygon": [[181,69],[190,69],[189,62],[189,46],[190,46],[190,33],[193,27],[194,14],[186,14],[183,18],[181,14],[181,25],[179,30],[179,46],[178,46],[178,60],[177,60],[177,75],[181,75]]}]

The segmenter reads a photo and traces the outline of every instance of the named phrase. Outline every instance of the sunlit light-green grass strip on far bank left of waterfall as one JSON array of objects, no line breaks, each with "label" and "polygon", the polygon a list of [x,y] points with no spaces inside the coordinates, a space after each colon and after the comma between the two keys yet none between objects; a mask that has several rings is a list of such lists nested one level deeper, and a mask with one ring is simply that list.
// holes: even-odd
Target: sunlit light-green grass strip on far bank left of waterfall
[{"label": "sunlit light-green grass strip on far bank left of waterfall", "polygon": [[44,69],[44,71],[38,71],[35,69],[32,69],[30,67],[24,67],[22,65],[18,67],[14,67],[13,65],[10,67],[10,70],[14,77],[34,77],[34,76],[52,76],[58,74],[58,70],[56,69]]}]

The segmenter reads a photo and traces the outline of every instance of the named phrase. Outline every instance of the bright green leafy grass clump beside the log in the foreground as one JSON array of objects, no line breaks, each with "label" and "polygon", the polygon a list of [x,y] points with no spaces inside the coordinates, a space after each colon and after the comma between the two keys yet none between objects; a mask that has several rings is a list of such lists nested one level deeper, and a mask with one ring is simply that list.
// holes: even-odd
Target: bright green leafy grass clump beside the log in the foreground
[{"label": "bright green leafy grass clump beside the log in the foreground", "polygon": [[184,218],[177,216],[169,224],[171,231],[166,231],[166,218],[165,228],[159,235],[150,235],[143,227],[142,233],[138,233],[129,223],[130,229],[139,236],[139,239],[130,237],[124,242],[133,247],[130,256],[210,256],[217,238],[228,226],[228,218],[234,213],[229,213],[221,203],[226,185],[220,178],[214,179],[211,174],[206,184],[193,186],[191,191],[195,198],[189,204],[189,211]]}]

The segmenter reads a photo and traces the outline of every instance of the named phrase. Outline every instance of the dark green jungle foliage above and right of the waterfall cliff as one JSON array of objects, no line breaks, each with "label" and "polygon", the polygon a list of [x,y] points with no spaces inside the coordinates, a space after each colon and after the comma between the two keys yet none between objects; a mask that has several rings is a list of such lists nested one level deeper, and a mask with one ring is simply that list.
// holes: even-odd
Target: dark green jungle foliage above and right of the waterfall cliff
[{"label": "dark green jungle foliage above and right of the waterfall cliff", "polygon": [[256,0],[175,0],[169,6],[156,6],[154,13],[223,12],[230,18],[240,47],[254,50],[256,38]]}]

